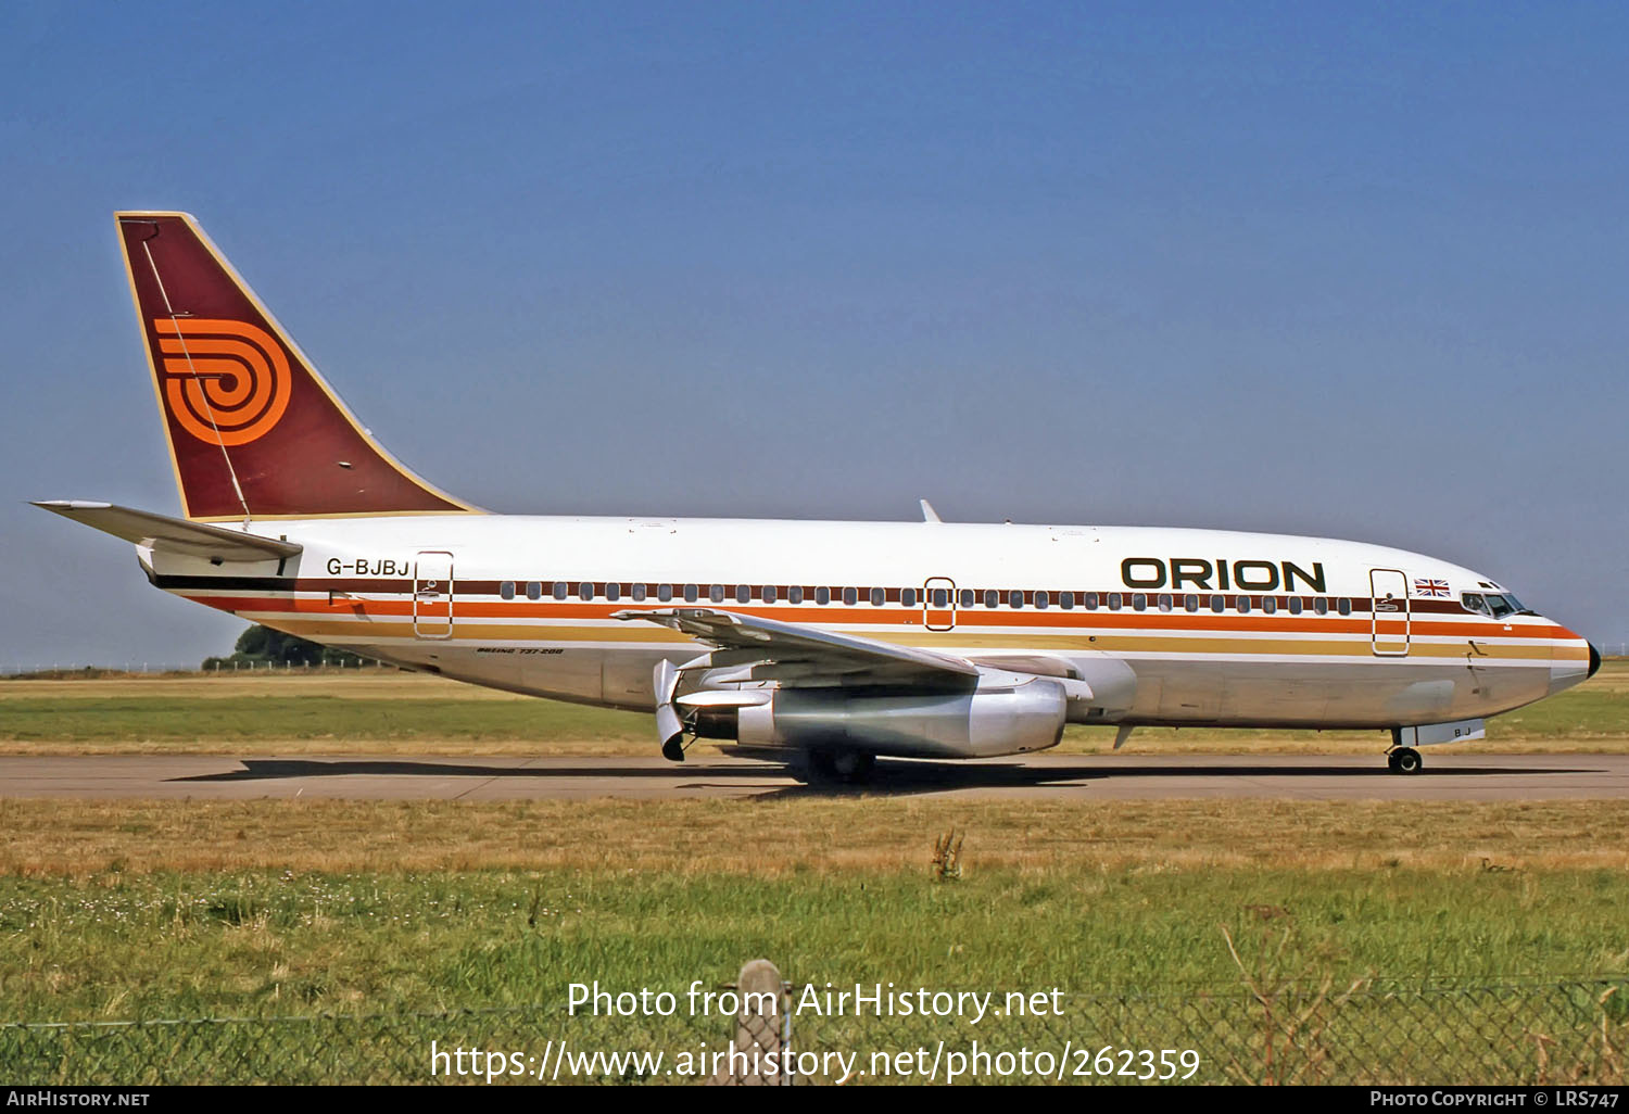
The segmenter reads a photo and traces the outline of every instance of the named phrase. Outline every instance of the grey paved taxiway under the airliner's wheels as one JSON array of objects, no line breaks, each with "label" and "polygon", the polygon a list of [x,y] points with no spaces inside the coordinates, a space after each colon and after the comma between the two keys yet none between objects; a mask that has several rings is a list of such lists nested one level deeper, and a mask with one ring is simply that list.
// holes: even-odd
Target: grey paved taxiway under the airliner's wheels
[{"label": "grey paved taxiway under the airliner's wheels", "polygon": [[[959,798],[1158,798],[1517,801],[1629,798],[1624,754],[1430,754],[1425,772],[1388,774],[1383,759],[1324,756],[1074,756],[876,765],[875,793]],[[801,796],[785,765],[660,757],[0,757],[0,796],[143,800],[367,798],[531,800],[622,796]]]}]

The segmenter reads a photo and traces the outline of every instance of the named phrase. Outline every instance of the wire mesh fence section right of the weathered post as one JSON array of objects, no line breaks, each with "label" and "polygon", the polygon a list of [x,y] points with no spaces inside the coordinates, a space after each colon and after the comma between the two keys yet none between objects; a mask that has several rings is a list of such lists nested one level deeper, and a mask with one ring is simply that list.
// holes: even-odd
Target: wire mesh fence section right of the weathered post
[{"label": "wire mesh fence section right of the weathered post", "polygon": [[930,1034],[919,1018],[798,1018],[793,1042],[920,1046],[942,1078],[959,1070],[966,1081],[1622,1083],[1624,995],[1611,979],[1122,992],[1074,995],[1064,1016],[1005,1016],[977,1034]]}]

